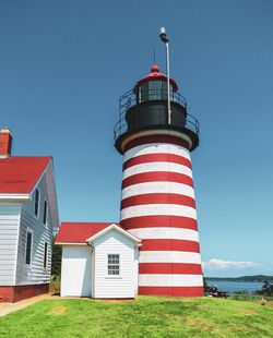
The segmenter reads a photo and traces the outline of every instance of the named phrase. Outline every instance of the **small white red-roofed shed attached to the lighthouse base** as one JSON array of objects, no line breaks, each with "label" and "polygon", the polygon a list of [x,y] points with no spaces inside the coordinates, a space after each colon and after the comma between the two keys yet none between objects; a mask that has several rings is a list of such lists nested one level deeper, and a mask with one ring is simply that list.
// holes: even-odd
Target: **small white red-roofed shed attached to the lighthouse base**
[{"label": "small white red-roofed shed attached to the lighthouse base", "polygon": [[134,298],[140,243],[117,224],[61,224],[61,297]]}]

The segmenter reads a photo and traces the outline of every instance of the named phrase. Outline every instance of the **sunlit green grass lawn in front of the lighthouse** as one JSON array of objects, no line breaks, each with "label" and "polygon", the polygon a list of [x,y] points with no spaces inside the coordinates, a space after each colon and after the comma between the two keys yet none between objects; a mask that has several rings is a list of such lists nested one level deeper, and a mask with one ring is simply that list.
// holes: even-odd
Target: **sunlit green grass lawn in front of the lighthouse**
[{"label": "sunlit green grass lawn in front of the lighthouse", "polygon": [[209,298],[46,300],[0,317],[0,337],[273,337],[269,305]]}]

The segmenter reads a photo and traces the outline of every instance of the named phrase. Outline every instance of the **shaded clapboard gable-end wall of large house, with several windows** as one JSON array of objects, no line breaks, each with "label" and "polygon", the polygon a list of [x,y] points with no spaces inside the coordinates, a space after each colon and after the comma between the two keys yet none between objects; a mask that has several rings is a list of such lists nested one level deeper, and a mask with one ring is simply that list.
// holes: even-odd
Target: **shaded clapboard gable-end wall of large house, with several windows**
[{"label": "shaded clapboard gable-end wall of large house, with several windows", "polygon": [[[34,216],[34,194],[31,201],[22,203],[16,285],[37,285],[50,282],[52,222],[49,207],[47,213],[47,225],[45,226],[43,224],[44,201],[46,200],[48,202],[46,173],[39,181],[37,188],[40,192],[38,217]],[[31,230],[33,233],[32,258],[29,265],[25,264],[27,230]],[[45,242],[48,243],[48,259],[46,269],[44,268]]]}]

